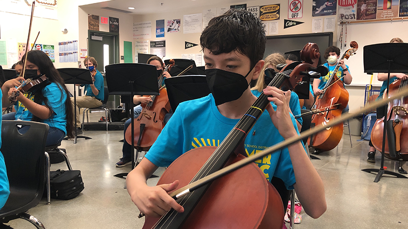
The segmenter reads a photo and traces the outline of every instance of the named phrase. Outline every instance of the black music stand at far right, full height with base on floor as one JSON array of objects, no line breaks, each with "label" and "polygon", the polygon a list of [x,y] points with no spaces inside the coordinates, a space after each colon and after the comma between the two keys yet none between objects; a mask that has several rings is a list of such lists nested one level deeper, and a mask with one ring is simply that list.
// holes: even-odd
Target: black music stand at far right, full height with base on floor
[{"label": "black music stand at far right, full height with base on floor", "polygon": [[[408,44],[407,43],[384,43],[364,46],[364,72],[365,73],[383,73],[388,72],[387,95],[390,85],[390,74],[408,72]],[[381,167],[361,169],[364,172],[377,172],[374,182],[380,181],[383,174],[396,176],[397,178],[408,178],[396,172],[384,170],[384,149],[387,129],[387,109],[384,109],[384,132],[381,149]],[[391,141],[388,141],[389,143]],[[389,147],[390,148],[390,147]],[[391,155],[390,151],[390,155]]]}]

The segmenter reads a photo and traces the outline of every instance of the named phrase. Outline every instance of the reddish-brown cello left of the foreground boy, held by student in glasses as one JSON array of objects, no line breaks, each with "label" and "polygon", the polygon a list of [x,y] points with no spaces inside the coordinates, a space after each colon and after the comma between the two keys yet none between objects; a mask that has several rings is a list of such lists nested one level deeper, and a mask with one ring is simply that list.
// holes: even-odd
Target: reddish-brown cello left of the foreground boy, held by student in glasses
[{"label": "reddish-brown cello left of the foreground boy, held by student in glasses", "polygon": [[[148,151],[164,128],[164,116],[170,112],[171,107],[167,90],[165,86],[161,87],[161,85],[164,80],[164,73],[170,71],[172,66],[174,66],[174,60],[170,59],[170,64],[165,67],[158,80],[160,94],[146,96],[152,98],[152,102],[142,104],[142,111],[135,119],[135,142],[137,142],[135,148],[139,151]],[[132,145],[131,128],[126,130],[125,140]]]}]

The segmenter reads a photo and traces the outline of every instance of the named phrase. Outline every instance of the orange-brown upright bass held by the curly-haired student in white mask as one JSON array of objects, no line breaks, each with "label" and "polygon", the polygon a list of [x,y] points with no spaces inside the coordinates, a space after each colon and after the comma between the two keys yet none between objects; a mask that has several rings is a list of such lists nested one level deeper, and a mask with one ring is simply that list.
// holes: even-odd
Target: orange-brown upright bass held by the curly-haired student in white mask
[{"label": "orange-brown upright bass held by the curly-haired student in white mask", "polygon": [[[355,41],[350,43],[352,48],[348,49],[340,60],[348,59],[358,49]],[[347,107],[349,93],[343,86],[343,82],[337,77],[337,71],[340,68],[338,62],[330,78],[324,86],[324,92],[316,98],[312,111],[316,112],[312,116],[311,126],[325,125],[335,117],[340,117],[343,109]],[[334,149],[343,136],[343,124],[339,123],[333,127],[327,128],[314,136],[307,139],[309,146],[315,148],[315,153],[319,151],[329,151]]]}]

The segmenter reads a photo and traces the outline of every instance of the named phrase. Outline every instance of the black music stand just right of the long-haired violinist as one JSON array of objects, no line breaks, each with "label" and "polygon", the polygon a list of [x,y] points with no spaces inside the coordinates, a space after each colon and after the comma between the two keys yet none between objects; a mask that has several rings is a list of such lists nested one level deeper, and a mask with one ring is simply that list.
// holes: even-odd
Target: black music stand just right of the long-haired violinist
[{"label": "black music stand just right of the long-haired violinist", "polygon": [[[61,75],[62,79],[64,79],[65,84],[73,84],[74,85],[74,119],[76,122],[76,84],[92,84],[92,77],[91,72],[85,68],[58,68],[57,69],[59,74]],[[84,123],[82,123],[84,124]],[[84,139],[92,139],[91,137],[86,136],[78,136],[77,135],[77,128],[75,124],[75,137],[74,137],[74,144],[77,142],[77,138],[84,138]],[[65,137],[64,140],[68,140],[68,137]]]}]

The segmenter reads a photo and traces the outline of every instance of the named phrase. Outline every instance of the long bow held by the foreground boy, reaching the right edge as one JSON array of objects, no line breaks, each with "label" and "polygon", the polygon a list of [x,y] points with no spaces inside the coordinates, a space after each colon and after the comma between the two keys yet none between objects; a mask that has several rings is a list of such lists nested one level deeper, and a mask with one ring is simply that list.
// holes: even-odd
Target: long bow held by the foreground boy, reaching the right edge
[{"label": "long bow held by the foreground boy, reaching the right edge", "polygon": [[319,126],[316,126],[314,128],[311,128],[309,130],[306,130],[301,135],[290,137],[290,138],[288,138],[288,139],[286,139],[286,140],[284,140],[284,141],[282,141],[282,142],[280,142],[278,144],[275,144],[275,145],[271,146],[270,148],[268,148],[266,150],[263,150],[263,151],[258,152],[256,154],[253,154],[253,155],[251,155],[249,157],[246,157],[246,158],[244,158],[242,160],[239,160],[238,162],[236,162],[236,163],[234,163],[232,165],[221,168],[220,170],[218,170],[218,171],[216,171],[214,173],[211,173],[210,175],[208,175],[208,176],[206,176],[206,177],[204,177],[204,178],[202,178],[202,179],[200,179],[198,181],[190,183],[190,184],[188,184],[188,185],[186,185],[186,186],[184,186],[184,187],[170,193],[170,196],[172,198],[174,198],[174,199],[178,199],[180,197],[183,197],[186,194],[200,188],[201,186],[203,186],[206,183],[212,182],[217,178],[220,178],[220,177],[222,177],[222,176],[224,176],[224,175],[226,175],[226,174],[228,174],[230,172],[233,172],[233,171],[237,170],[238,168],[244,167],[244,166],[254,162],[255,160],[261,159],[262,157],[264,157],[266,155],[269,155],[269,154],[274,153],[274,152],[276,152],[278,150],[286,148],[289,145],[302,140],[303,138],[309,137],[311,135],[315,135],[316,133],[318,133],[320,131],[323,131],[326,128],[329,128],[329,127],[332,127],[334,125],[340,124],[340,123],[342,123],[342,122],[344,122],[346,120],[355,118],[359,114],[362,114],[362,113],[365,113],[367,111],[373,110],[376,107],[384,106],[384,105],[388,104],[389,102],[391,102],[394,99],[400,99],[400,98],[406,97],[406,96],[408,96],[408,88],[406,88],[404,90],[401,90],[400,92],[396,93],[394,96],[392,96],[390,98],[383,99],[383,100],[380,100],[380,101],[376,101],[376,102],[372,103],[371,105],[363,107],[363,108],[357,110],[356,113],[344,114],[339,118],[335,118],[335,119],[327,122],[326,125],[319,125]]}]

